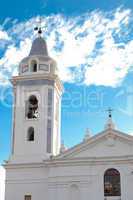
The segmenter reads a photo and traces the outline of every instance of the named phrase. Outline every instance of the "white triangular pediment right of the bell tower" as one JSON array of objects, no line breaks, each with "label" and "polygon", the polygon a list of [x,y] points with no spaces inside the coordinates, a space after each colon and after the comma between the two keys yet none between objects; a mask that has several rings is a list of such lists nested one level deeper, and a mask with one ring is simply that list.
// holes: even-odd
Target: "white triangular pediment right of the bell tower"
[{"label": "white triangular pediment right of the bell tower", "polygon": [[133,156],[133,136],[108,129],[67,150],[57,158]]}]

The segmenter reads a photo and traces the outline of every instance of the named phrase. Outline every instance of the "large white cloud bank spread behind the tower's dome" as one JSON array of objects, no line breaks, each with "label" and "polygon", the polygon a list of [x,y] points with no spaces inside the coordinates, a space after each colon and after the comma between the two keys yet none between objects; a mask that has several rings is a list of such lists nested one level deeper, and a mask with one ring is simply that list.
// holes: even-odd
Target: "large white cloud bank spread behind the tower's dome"
[{"label": "large white cloud bank spread behind the tower's dome", "polygon": [[[16,74],[16,66],[28,55],[32,24],[37,19],[15,23],[8,31],[13,41],[0,59],[1,80]],[[131,19],[129,9],[117,9],[112,13],[94,11],[71,18],[43,17],[42,26],[47,27],[44,35],[50,55],[58,63],[61,79],[86,85],[115,87],[120,84],[133,65]]]}]

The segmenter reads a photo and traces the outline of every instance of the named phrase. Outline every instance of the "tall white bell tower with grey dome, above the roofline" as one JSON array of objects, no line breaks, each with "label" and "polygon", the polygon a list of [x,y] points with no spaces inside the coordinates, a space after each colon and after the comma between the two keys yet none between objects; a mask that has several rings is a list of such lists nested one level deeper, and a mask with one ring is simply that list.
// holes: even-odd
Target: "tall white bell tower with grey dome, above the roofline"
[{"label": "tall white bell tower with grey dome, above the roofline", "polygon": [[40,162],[60,152],[62,83],[46,41],[38,36],[12,78],[14,119],[10,162]]}]

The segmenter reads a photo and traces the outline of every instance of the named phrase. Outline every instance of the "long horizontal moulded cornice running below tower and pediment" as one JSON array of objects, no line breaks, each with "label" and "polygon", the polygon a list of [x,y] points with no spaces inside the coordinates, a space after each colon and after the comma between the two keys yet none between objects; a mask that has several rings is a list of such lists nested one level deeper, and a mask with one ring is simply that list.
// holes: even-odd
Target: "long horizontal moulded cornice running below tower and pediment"
[{"label": "long horizontal moulded cornice running below tower and pediment", "polygon": [[69,159],[49,159],[40,163],[6,163],[5,169],[27,169],[27,168],[49,168],[59,166],[98,166],[98,165],[133,165],[133,156],[115,156],[115,157],[82,157]]}]

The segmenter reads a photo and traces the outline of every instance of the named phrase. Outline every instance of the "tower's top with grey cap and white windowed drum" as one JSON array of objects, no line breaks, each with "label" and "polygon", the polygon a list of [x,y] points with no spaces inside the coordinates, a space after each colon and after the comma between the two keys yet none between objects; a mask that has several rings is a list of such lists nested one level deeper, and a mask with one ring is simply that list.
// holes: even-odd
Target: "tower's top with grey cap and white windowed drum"
[{"label": "tower's top with grey cap and white windowed drum", "polygon": [[32,43],[29,55],[20,62],[19,75],[53,76],[57,73],[56,61],[49,56],[46,41],[41,36],[37,37]]}]

